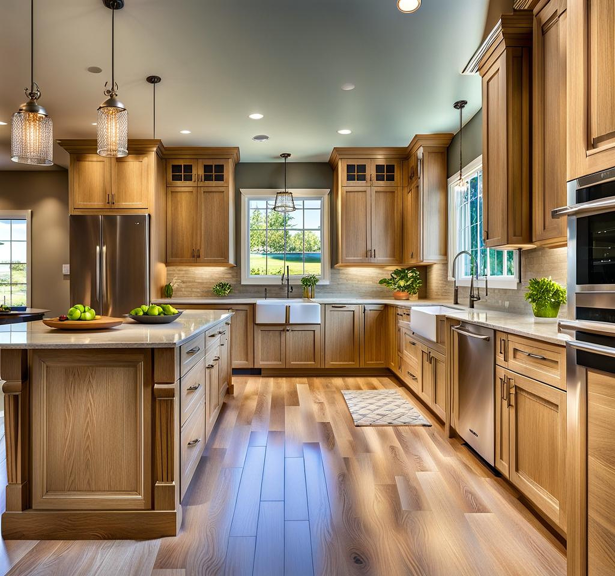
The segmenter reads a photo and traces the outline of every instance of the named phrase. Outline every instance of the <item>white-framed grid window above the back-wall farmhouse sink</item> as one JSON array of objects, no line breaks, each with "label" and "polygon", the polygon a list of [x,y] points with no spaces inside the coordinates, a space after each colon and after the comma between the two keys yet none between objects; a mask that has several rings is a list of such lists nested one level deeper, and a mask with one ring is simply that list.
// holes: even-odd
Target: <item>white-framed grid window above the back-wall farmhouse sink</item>
[{"label": "white-framed grid window above the back-wall farmhouse sink", "polygon": [[329,282],[328,190],[292,190],[294,212],[273,207],[277,190],[242,190],[242,284],[291,282],[315,274]]}]

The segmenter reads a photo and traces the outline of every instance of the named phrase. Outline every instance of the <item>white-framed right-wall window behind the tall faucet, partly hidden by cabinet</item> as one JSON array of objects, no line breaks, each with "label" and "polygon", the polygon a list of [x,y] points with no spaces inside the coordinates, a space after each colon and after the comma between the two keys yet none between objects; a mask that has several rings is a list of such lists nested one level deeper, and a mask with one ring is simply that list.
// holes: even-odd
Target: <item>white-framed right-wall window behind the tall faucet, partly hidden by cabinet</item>
[{"label": "white-framed right-wall window behind the tall faucet, partly hidden by cabinet", "polygon": [[[477,262],[478,275],[489,278],[494,288],[518,288],[519,263],[517,250],[486,248],[483,240],[483,165],[482,156],[464,168],[462,174],[467,182],[464,192],[455,190],[459,180],[456,173],[448,180],[449,262],[448,279],[453,280],[453,258],[461,250],[467,250]],[[472,270],[470,258],[461,256],[457,261],[457,279],[461,286],[469,285]],[[484,285],[484,280],[480,281]]]}]

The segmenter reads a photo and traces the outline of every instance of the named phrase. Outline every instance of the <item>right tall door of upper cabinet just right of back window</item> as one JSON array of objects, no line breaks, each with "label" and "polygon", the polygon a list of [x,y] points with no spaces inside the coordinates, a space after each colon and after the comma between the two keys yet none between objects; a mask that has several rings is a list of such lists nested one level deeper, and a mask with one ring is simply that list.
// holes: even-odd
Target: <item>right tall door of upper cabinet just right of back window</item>
[{"label": "right tall door of upper cabinet just right of back window", "polygon": [[401,261],[402,206],[400,188],[371,189],[371,262],[396,264]]}]

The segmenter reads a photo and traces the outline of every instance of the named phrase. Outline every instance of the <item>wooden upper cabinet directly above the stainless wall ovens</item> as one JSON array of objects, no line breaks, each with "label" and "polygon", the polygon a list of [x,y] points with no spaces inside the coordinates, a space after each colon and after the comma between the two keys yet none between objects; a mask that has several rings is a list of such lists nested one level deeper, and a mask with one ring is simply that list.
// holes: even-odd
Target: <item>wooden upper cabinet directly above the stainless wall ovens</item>
[{"label": "wooden upper cabinet directly above the stainless wall ovens", "polygon": [[568,180],[615,166],[615,6],[568,0]]}]

